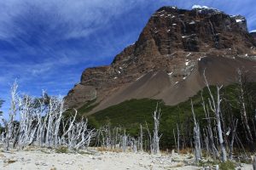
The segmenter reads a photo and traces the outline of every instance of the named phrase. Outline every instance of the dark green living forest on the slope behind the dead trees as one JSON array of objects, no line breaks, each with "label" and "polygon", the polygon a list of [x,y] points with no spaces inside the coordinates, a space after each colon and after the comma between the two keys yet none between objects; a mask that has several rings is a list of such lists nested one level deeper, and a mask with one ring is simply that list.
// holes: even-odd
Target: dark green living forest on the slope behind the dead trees
[{"label": "dark green living forest on the slope behind the dead trees", "polygon": [[[216,94],[216,87],[211,87],[212,94]],[[193,96],[191,99],[194,103],[196,119],[200,122],[201,127],[207,126],[207,120],[205,119],[205,113],[201,105],[203,96],[206,104],[209,98],[207,88],[204,88],[201,92]],[[245,100],[247,108],[248,122],[252,125],[256,121],[255,119],[255,102],[256,102],[256,83],[247,83],[245,87]],[[239,101],[239,86],[237,84],[229,85],[222,88],[221,98],[223,99],[221,109],[222,117],[224,119],[223,128],[224,132],[228,131],[228,128],[232,126],[230,123],[230,117],[237,118],[237,135],[241,138],[241,142],[246,146],[247,144],[246,134],[241,123],[241,103]],[[153,128],[153,118],[156,105],[159,105],[161,110],[160,118],[160,133],[162,137],[160,139],[160,146],[162,149],[175,147],[175,139],[173,130],[176,133],[177,138],[177,126],[180,129],[181,147],[190,147],[193,144],[193,127],[194,122],[191,113],[191,99],[180,103],[178,105],[170,106],[165,105],[163,101],[156,99],[131,99],[120,103],[119,105],[113,105],[105,110],[98,111],[95,114],[89,116],[89,122],[91,127],[100,127],[106,124],[110,124],[111,127],[123,127],[126,129],[126,133],[131,136],[137,137],[139,135],[139,125],[145,126],[145,122],[148,123],[150,130]],[[83,107],[86,111],[88,108]],[[214,117],[211,112],[211,117]],[[81,115],[80,115],[81,116]],[[212,120],[212,127],[214,127]],[[201,130],[202,131],[202,130]],[[255,128],[252,129],[254,139],[256,138]],[[144,134],[147,135],[146,129]],[[203,132],[201,132],[203,134]],[[226,136],[225,138],[230,138]],[[236,145],[236,144],[235,144]],[[237,144],[239,145],[239,144]]]}]

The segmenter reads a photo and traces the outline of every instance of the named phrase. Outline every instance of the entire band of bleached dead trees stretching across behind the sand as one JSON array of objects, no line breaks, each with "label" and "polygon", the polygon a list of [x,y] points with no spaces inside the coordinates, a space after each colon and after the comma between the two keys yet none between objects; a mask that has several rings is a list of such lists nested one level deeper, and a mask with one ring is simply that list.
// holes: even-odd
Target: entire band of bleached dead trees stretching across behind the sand
[{"label": "entire band of bleached dead trees stretching across behind the sand", "polygon": [[[247,78],[241,71],[237,72],[237,96],[233,101],[221,93],[222,85],[212,87],[205,77],[208,97],[201,95],[204,118],[198,118],[191,99],[190,122],[193,128],[188,129],[177,123],[176,128],[169,129],[174,139],[170,149],[177,153],[191,149],[195,162],[201,161],[204,156],[220,161],[251,159],[256,140],[256,96]],[[132,136],[122,126],[89,126],[86,117],[77,118],[77,110],[67,110],[61,97],[51,97],[44,92],[41,98],[21,95],[17,82],[11,88],[10,97],[8,117],[2,116],[0,143],[4,150],[22,150],[34,145],[51,148],[65,146],[73,151],[102,147],[105,150],[144,151],[150,154],[170,152],[160,147],[163,134],[160,133],[159,105],[152,113],[153,127],[148,127],[147,122],[140,124],[139,133]],[[239,112],[232,111],[234,102]]]}]

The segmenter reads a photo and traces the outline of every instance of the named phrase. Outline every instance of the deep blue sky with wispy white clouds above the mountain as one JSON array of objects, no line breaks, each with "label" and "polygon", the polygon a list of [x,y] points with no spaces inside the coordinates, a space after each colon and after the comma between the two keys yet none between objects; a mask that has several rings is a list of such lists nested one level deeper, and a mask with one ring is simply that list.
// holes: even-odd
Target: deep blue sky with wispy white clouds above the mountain
[{"label": "deep blue sky with wispy white clouds above the mountain", "polygon": [[165,5],[207,5],[247,17],[256,30],[255,0],[1,0],[0,98],[19,82],[20,94],[42,89],[65,95],[86,67],[108,65],[135,42],[151,14]]}]

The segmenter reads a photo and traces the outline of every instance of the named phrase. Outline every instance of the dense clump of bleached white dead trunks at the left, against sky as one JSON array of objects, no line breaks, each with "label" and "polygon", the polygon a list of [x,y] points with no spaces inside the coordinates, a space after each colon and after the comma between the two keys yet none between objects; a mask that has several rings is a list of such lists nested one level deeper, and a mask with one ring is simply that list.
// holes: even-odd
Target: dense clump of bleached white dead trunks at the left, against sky
[{"label": "dense clump of bleached white dead trunks at the left, against sky", "polygon": [[[9,120],[3,119],[5,132],[1,141],[6,150],[9,150],[10,144],[13,148],[16,144],[19,148],[30,144],[49,147],[67,145],[74,150],[89,146],[95,129],[88,128],[87,119],[75,122],[77,111],[74,116],[64,119],[66,108],[63,99],[50,97],[49,105],[44,105],[44,99],[34,99],[28,95],[20,97],[17,88],[15,82],[11,88]],[[19,122],[15,122],[18,118]]]}]

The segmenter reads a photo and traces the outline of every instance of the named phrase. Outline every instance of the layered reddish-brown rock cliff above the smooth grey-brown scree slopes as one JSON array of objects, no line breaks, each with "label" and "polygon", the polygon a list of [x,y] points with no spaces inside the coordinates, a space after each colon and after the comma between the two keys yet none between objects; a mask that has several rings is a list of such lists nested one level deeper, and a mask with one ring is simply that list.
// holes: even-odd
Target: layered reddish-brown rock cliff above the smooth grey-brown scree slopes
[{"label": "layered reddish-brown rock cliff above the smooth grey-brown scree slopes", "polygon": [[[67,105],[79,107],[92,99],[101,103],[148,72],[166,73],[166,83],[173,86],[189,77],[203,57],[248,57],[256,54],[254,48],[240,15],[212,8],[163,7],[148,20],[137,42],[115,56],[111,65],[83,72],[80,83],[67,94]],[[156,94],[143,97],[152,95]]]}]

